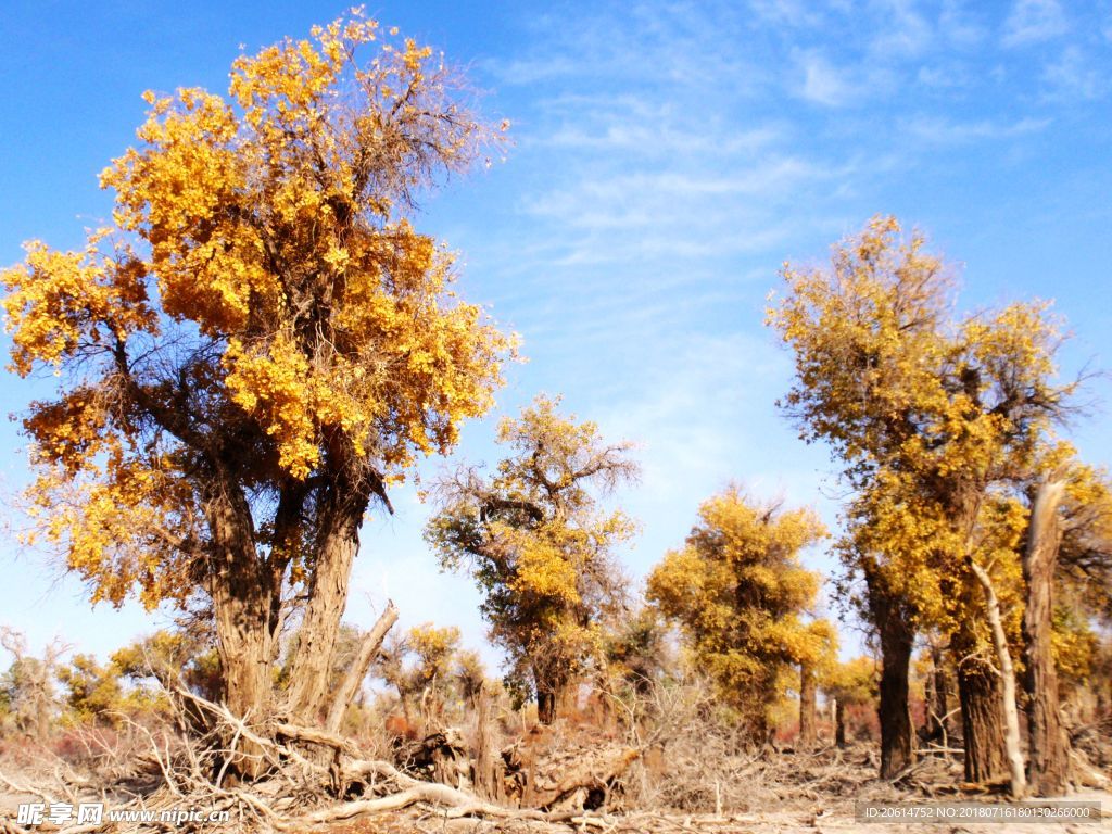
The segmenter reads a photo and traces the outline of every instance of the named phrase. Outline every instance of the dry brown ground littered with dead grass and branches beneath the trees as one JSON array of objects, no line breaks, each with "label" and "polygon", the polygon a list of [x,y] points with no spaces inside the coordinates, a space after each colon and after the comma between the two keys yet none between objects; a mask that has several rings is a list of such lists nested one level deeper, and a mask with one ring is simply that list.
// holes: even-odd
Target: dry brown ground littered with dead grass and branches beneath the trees
[{"label": "dry brown ground littered with dead grass and branches beneath the trees", "polygon": [[[671,834],[852,831],[860,826],[856,802],[1001,798],[994,786],[963,785],[956,756],[924,755],[895,782],[882,782],[872,744],[814,752],[753,748],[706,708],[697,687],[616,702],[600,723],[580,718],[538,728],[492,719],[478,733],[471,722],[444,733],[455,741],[439,748],[448,751],[441,753],[447,761],[433,758],[431,765],[417,762],[411,747],[383,741],[385,734],[370,733],[378,739],[370,749],[363,739],[311,728],[250,726],[195,698],[197,706],[212,718],[207,736],[185,733],[172,721],[125,722],[112,732],[73,731],[52,749],[0,747],[0,832],[23,834],[12,822],[20,801],[103,798],[115,807],[232,812],[229,824],[176,827],[183,832]],[[1104,722],[1075,737],[1078,753],[1102,778],[1112,763],[1110,735],[1112,725]],[[255,784],[236,782],[222,764],[245,737],[257,741],[271,765]],[[506,791],[497,802],[471,791],[468,766],[477,737],[496,738],[500,748]],[[1112,811],[1112,796],[1103,791],[1086,798]],[[1105,823],[1103,830],[1108,827]],[[894,830],[868,826],[872,834]],[[1017,828],[1023,834],[1036,830]],[[993,826],[993,834],[1007,831]],[[1054,831],[1064,834],[1066,828]]]}]

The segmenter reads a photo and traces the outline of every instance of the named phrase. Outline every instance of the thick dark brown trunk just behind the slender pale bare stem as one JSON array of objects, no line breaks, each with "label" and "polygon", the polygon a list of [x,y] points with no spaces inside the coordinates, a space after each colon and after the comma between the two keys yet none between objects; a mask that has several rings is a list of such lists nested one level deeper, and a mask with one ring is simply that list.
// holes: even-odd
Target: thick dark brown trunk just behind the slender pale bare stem
[{"label": "thick dark brown trunk just behind the slender pale bare stem", "polygon": [[1003,697],[996,675],[976,657],[959,656],[957,694],[962,707],[966,782],[990,782],[1005,773]]}]

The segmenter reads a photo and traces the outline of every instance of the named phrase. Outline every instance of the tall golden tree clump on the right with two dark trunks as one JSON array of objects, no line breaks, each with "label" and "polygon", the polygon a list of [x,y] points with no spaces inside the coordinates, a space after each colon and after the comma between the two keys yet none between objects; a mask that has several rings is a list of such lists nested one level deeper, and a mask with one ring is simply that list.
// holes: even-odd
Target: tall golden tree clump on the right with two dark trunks
[{"label": "tall golden tree clump on the right with two dark trunks", "polygon": [[1020,490],[1053,457],[1074,385],[1055,383],[1061,337],[1045,304],[959,317],[952,270],[921,234],[900,232],[877,217],[828,268],[785,267],[771,320],[795,353],[784,405],[855,492],[841,549],[884,656],[882,775],[910,763],[911,648],[919,626],[941,624],[959,661],[966,775],[980,781],[1001,775],[1001,705],[1014,712],[994,671],[1007,635],[989,627],[981,585],[1011,589],[1019,642]]}]

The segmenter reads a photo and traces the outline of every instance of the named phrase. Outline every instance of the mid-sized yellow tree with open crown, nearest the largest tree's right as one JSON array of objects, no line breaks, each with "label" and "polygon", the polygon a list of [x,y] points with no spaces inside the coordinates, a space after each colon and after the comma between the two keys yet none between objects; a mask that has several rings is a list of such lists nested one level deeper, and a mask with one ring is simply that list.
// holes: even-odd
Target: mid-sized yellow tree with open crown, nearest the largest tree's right
[{"label": "mid-sized yellow tree with open crown, nearest the largest tree's right", "polygon": [[489,477],[464,468],[446,479],[426,530],[445,567],[475,577],[490,637],[508,656],[507,683],[536,696],[545,724],[602,657],[604,626],[625,606],[614,548],[634,526],[600,498],[637,474],[629,444],[606,443],[596,424],[557,405],[542,396],[504,420],[498,440],[513,454]]}]

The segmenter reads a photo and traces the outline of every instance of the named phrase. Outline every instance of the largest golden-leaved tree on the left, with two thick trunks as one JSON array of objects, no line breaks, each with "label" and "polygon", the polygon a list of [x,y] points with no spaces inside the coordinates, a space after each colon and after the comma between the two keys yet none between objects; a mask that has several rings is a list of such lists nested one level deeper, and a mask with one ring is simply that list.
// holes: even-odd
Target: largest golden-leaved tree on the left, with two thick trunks
[{"label": "largest golden-leaved tree on the left, with two thick trunks", "polygon": [[414,229],[421,189],[496,130],[428,48],[356,14],[235,61],[228,96],[148,92],[101,175],[113,224],[3,272],[38,532],[95,600],[206,596],[226,698],[314,721],[369,505],[484,414],[513,346]]}]

